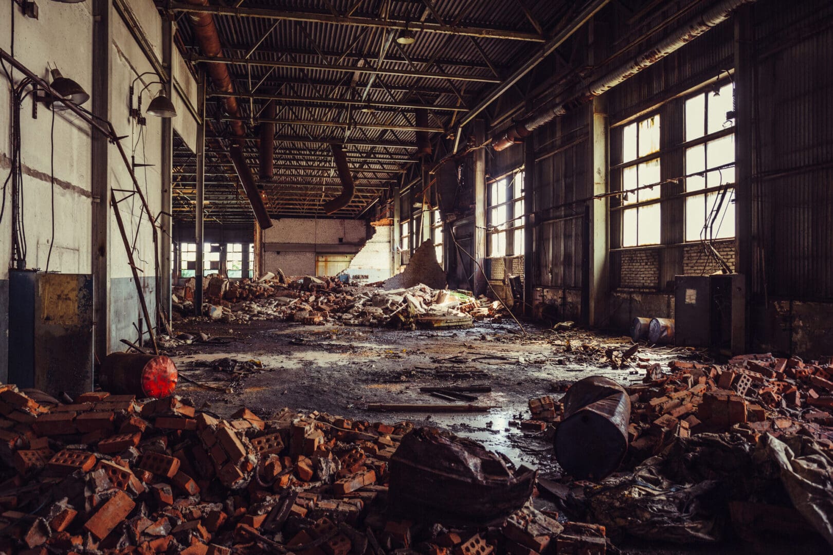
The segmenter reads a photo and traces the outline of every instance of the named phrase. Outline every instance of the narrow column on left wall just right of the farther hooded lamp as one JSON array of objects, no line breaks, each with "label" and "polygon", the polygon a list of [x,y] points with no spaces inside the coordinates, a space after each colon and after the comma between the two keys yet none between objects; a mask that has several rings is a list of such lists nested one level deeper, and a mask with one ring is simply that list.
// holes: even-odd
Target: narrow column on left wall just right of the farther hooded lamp
[{"label": "narrow column on left wall just right of the farther hooded lamp", "polygon": [[[173,98],[173,64],[172,64],[172,42],[173,25],[167,17],[162,17],[162,67],[167,72],[168,80],[164,84],[165,96]],[[159,216],[159,224],[162,226],[162,233],[159,235],[159,271],[162,291],[160,299],[162,312],[171,319],[171,280],[172,280],[172,171],[173,171],[173,122],[169,117],[162,118],[162,213]]]}]

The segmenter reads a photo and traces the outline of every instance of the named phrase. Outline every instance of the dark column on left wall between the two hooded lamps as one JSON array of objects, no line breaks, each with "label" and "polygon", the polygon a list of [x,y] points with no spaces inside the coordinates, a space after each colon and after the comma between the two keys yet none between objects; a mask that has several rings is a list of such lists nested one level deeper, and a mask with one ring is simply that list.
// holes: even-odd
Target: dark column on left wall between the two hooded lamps
[{"label": "dark column on left wall between the two hooded lamps", "polygon": [[[111,0],[92,2],[92,114],[110,120]],[[94,353],[104,359],[110,349],[110,165],[107,137],[92,137],[92,311]]]}]

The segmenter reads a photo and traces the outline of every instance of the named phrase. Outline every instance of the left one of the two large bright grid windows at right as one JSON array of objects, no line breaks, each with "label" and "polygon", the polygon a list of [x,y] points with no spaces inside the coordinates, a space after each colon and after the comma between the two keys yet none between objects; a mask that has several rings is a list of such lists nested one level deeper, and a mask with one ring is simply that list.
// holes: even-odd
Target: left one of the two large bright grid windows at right
[{"label": "left one of the two large bright grid windows at right", "polygon": [[659,115],[622,128],[622,163],[622,246],[656,245],[661,236]]}]

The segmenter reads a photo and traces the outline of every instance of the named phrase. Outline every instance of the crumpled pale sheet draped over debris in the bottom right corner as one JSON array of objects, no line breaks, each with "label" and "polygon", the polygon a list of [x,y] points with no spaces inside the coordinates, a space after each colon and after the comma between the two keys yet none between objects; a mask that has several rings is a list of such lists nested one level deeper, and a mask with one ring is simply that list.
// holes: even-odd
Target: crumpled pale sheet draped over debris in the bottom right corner
[{"label": "crumpled pale sheet draped over debris in the bottom right corner", "polygon": [[793,506],[833,546],[833,460],[810,438],[781,441],[770,434],[761,440],[767,458],[781,468]]}]

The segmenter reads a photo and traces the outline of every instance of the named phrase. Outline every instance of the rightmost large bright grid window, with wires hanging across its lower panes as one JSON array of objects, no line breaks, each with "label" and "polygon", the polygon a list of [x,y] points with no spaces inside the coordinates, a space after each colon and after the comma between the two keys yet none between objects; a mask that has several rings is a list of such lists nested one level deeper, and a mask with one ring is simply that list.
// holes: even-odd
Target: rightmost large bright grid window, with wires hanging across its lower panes
[{"label": "rightmost large bright grid window, with wires hanging across its lower panes", "polygon": [[686,99],[686,240],[735,236],[734,86]]}]

